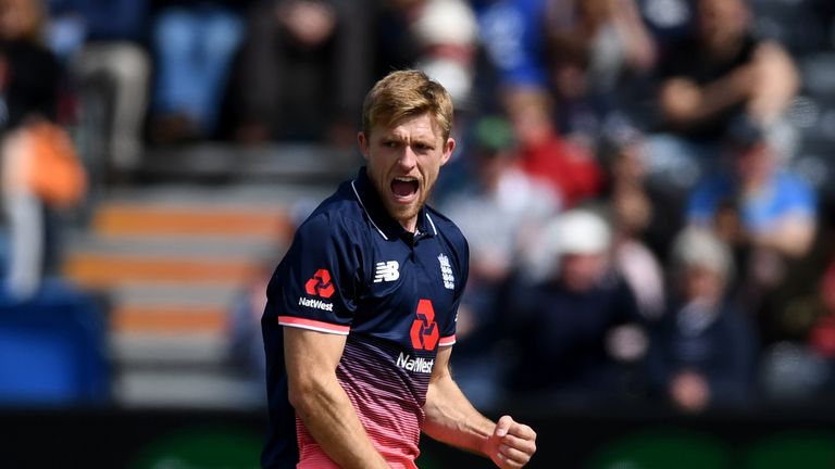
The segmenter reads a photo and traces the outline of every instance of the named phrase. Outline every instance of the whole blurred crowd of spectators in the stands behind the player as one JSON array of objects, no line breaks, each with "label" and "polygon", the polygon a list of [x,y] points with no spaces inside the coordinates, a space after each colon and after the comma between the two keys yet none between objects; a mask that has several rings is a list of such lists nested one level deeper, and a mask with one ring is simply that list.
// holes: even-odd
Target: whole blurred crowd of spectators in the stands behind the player
[{"label": "whole blurred crowd of spectators in the stands behind the player", "polygon": [[7,283],[145,148],[349,148],[367,88],[418,67],[456,101],[433,199],[470,241],[477,406],[835,404],[831,193],[796,164],[835,150],[810,121],[834,53],[826,0],[0,0]]}]

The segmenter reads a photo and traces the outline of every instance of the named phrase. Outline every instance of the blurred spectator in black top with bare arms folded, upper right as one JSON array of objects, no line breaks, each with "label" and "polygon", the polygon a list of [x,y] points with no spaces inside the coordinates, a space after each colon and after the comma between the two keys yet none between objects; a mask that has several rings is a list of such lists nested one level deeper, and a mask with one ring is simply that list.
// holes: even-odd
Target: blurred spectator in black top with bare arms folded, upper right
[{"label": "blurred spectator in black top with bare arms folded, upper right", "polygon": [[715,166],[716,147],[732,123],[765,129],[798,87],[792,58],[750,31],[745,0],[699,0],[695,33],[660,61],[660,128],[649,140],[653,180],[687,190]]}]

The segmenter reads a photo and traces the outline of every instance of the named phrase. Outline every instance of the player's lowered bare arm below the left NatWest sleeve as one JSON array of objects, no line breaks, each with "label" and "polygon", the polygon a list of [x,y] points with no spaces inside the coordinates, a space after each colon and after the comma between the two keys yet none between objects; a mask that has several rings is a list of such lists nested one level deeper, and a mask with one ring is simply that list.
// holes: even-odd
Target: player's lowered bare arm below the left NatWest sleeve
[{"label": "player's lowered bare arm below the left NatWest sleeve", "polygon": [[290,404],[339,467],[388,468],[336,379],[345,341],[345,335],[284,328]]}]

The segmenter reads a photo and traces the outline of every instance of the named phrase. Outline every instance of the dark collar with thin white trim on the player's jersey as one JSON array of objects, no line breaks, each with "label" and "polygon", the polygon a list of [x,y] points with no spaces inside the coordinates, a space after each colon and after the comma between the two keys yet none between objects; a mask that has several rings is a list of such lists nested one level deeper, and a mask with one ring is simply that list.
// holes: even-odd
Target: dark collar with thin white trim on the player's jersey
[{"label": "dark collar with thin white trim on the player's jersey", "polygon": [[[365,166],[360,168],[357,178],[351,181],[351,189],[360,205],[362,205],[363,211],[365,211],[365,215],[367,215],[371,224],[374,225],[374,228],[376,228],[376,231],[383,239],[398,239],[408,233],[386,211],[383,201],[379,200],[377,190],[369,178]],[[421,212],[418,214],[418,233],[421,237],[436,236],[438,233],[435,221],[433,221],[425,205],[421,207]]]}]

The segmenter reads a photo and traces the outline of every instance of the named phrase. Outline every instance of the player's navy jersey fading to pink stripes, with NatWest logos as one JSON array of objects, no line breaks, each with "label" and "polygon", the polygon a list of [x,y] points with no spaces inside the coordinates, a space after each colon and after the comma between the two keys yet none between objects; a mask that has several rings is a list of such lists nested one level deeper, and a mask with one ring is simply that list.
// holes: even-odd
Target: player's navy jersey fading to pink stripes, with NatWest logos
[{"label": "player's navy jersey fading to pink stripes, with NatWest logos", "polygon": [[336,467],[287,398],[283,328],[347,335],[337,379],[391,467],[413,468],[438,347],[456,341],[468,277],[463,234],[425,206],[415,233],[386,212],[362,168],[299,227],[267,287],[267,468]]}]

